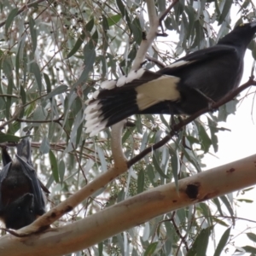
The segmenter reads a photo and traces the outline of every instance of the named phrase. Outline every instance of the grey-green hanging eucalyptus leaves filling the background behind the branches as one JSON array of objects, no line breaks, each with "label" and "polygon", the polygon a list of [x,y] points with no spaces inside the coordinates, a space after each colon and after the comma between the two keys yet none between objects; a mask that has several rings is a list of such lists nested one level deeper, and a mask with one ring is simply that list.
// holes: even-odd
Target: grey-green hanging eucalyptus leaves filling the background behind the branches
[{"label": "grey-green hanging eucalyptus leaves filling the background behind the branches", "polygon": [[[157,14],[170,4],[155,1]],[[33,160],[51,191],[49,208],[54,207],[113,166],[111,129],[92,138],[85,134],[84,102],[103,80],[131,70],[150,28],[147,4],[141,0],[2,1],[0,9],[0,142],[12,147],[32,129]],[[252,0],[176,1],[161,22],[144,67],[158,70],[182,55],[216,44],[233,26],[255,18]],[[249,49],[256,59],[255,41]],[[134,161],[129,172],[96,189],[53,227],[201,172],[204,155],[210,148],[218,151],[218,131],[223,130],[218,122],[235,113],[237,102],[186,125],[164,146]],[[134,125],[122,134],[128,160],[170,132],[168,116],[132,116],[129,121]],[[73,255],[192,256],[206,255],[208,249],[209,255],[217,256],[227,246],[232,253],[254,255],[252,246],[232,246],[235,205],[232,194],[201,201]],[[217,231],[219,226],[224,227],[223,235]],[[255,234],[247,232],[247,238],[255,242]]]}]

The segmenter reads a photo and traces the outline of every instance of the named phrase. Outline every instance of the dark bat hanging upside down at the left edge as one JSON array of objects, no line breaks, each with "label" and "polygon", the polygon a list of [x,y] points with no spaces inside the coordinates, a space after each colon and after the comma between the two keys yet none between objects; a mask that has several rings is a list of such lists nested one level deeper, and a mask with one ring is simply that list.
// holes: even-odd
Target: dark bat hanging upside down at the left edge
[{"label": "dark bat hanging upside down at the left edge", "polygon": [[0,172],[0,219],[7,229],[19,230],[45,212],[45,195],[49,190],[39,181],[32,166],[28,137],[17,146],[15,160],[2,148],[3,170]]}]

